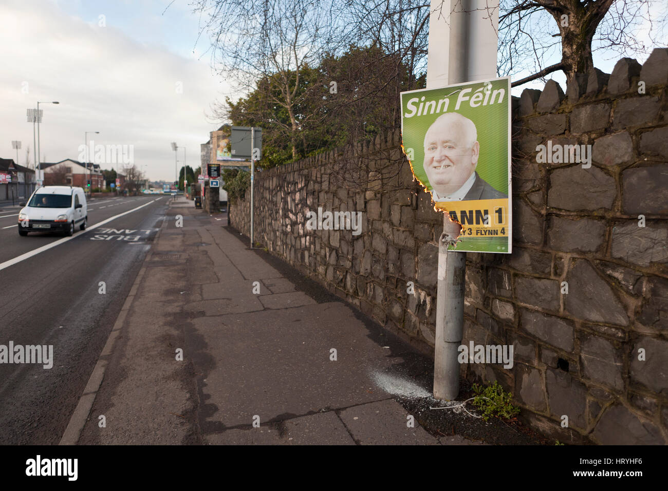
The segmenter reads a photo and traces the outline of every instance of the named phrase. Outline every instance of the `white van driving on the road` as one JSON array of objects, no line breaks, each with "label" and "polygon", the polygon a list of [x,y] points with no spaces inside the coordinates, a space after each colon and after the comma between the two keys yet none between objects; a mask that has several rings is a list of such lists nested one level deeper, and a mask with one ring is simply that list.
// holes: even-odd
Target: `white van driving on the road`
[{"label": "white van driving on the road", "polygon": [[19,212],[19,235],[28,232],[61,232],[65,236],[88,222],[88,205],[82,188],[43,186],[37,188]]}]

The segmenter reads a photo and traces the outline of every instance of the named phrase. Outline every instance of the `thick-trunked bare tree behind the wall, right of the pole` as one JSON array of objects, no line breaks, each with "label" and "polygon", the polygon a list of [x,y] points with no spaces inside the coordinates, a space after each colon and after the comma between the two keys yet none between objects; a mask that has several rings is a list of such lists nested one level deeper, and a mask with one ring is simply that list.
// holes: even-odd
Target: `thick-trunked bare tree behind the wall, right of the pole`
[{"label": "thick-trunked bare tree behind the wall, right of the pole", "polygon": [[[665,25],[661,5],[656,0],[502,0],[498,72],[536,71],[514,81],[513,86],[558,70],[570,82],[575,73],[593,69],[597,49],[621,55],[647,53],[659,45],[659,39],[654,40],[657,28]],[[638,33],[648,27],[653,43],[644,45]],[[560,61],[546,66],[546,60],[559,49]]]}]

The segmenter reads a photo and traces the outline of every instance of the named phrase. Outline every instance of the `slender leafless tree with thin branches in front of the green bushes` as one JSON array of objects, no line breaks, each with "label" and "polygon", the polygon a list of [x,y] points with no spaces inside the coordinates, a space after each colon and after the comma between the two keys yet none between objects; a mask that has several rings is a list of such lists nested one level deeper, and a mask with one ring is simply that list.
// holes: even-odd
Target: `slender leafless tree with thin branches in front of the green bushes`
[{"label": "slender leafless tree with thin branches in front of the green bushes", "polygon": [[[303,84],[304,72],[325,51],[336,50],[347,30],[334,0],[196,0],[205,18],[202,32],[212,35],[212,65],[234,89],[250,93],[267,84],[263,94],[283,108],[288,122],[276,122],[290,138],[293,158],[303,125],[313,114],[298,114],[303,98],[322,90]],[[228,106],[214,104],[213,116],[226,119]]]}]

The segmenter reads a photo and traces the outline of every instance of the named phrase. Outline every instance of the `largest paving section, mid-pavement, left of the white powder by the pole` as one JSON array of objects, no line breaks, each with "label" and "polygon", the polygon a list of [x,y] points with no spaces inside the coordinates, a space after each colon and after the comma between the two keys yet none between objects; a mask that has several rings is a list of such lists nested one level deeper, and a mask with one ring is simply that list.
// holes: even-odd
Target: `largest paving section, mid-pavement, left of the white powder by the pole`
[{"label": "largest paving section, mid-pavement, left of the white powder by the pole", "polygon": [[199,341],[188,351],[204,372],[198,378],[203,434],[249,424],[255,414],[269,422],[386,399],[373,373],[403,362],[338,302],[199,317],[192,327]]}]

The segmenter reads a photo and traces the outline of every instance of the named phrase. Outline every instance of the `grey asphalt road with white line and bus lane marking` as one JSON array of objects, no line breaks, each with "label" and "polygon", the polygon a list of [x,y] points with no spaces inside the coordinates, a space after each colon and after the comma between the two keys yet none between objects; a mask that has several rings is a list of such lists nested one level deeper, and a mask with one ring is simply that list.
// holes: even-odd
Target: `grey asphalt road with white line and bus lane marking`
[{"label": "grey asphalt road with white line and bus lane marking", "polygon": [[0,444],[59,442],[169,200],[91,200],[88,231],[69,240],[21,237],[19,210],[0,212],[0,345],[53,345],[51,369],[0,363]]}]

